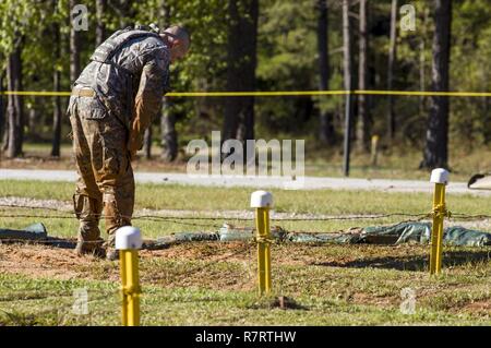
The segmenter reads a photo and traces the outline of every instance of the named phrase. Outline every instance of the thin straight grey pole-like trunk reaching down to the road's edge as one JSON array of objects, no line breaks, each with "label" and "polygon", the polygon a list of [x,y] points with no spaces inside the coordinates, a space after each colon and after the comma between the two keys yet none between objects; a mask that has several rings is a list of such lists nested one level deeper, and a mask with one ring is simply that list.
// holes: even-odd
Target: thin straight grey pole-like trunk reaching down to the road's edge
[{"label": "thin straight grey pole-like trunk reaching down to the road's edge", "polygon": [[345,144],[344,144],[344,173],[349,176],[349,155],[351,151],[351,120],[352,120],[352,56],[351,56],[351,26],[349,20],[349,0],[343,0],[343,68],[345,91],[348,92],[345,100]]}]

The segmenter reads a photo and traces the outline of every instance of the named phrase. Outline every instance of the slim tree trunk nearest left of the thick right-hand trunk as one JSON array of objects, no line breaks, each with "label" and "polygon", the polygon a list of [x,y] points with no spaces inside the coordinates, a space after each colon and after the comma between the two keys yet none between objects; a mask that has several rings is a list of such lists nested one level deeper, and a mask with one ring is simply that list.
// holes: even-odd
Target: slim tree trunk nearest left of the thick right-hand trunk
[{"label": "slim tree trunk nearest left of the thick right-hand trunk", "polygon": [[[394,86],[394,64],[397,59],[397,0],[392,0],[391,10],[391,43],[388,47],[388,67],[387,67],[387,89],[392,91]],[[396,121],[394,115],[394,97],[388,96],[387,110],[387,136],[392,142],[396,132]]]}]

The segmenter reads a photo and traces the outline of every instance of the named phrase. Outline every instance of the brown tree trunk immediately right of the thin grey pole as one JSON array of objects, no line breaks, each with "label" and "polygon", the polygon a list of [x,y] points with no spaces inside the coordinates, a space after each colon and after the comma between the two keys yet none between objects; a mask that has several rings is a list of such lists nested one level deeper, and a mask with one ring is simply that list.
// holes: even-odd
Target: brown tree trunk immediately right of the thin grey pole
[{"label": "brown tree trunk immediately right of the thin grey pole", "polygon": [[[368,0],[360,0],[360,39],[358,61],[358,88],[367,89],[368,84]],[[370,152],[370,110],[368,108],[368,95],[358,95],[358,147],[363,152]]]}]

